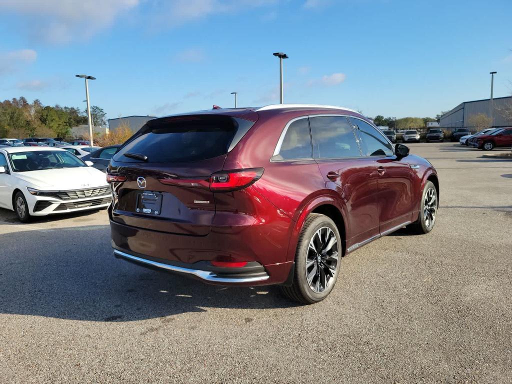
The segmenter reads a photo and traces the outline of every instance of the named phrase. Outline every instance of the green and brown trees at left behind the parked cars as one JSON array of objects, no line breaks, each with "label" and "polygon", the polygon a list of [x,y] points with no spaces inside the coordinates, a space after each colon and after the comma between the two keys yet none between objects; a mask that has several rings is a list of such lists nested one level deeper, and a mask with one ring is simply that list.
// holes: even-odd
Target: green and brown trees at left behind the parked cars
[{"label": "green and brown trees at left behind the parked cars", "polygon": [[[95,126],[106,124],[99,106],[91,107]],[[73,106],[29,103],[25,97],[0,101],[0,137],[69,137],[73,126],[87,124],[87,110]]]}]

